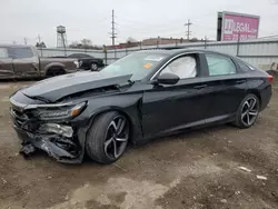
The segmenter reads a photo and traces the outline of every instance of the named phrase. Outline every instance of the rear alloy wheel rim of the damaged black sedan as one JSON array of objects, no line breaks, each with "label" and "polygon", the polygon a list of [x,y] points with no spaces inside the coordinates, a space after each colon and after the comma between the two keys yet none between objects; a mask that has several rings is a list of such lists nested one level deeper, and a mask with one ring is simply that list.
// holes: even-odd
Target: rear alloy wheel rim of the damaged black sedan
[{"label": "rear alloy wheel rim of the damaged black sedan", "polygon": [[248,98],[241,109],[241,121],[245,126],[250,127],[256,121],[259,113],[259,104],[256,98]]}]

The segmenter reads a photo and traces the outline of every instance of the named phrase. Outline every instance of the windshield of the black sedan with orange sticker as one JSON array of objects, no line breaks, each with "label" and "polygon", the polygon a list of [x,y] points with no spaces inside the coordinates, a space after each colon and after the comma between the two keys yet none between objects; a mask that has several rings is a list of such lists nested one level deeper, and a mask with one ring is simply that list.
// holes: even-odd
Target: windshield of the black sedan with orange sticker
[{"label": "windshield of the black sedan with orange sticker", "polygon": [[147,77],[166,58],[166,54],[138,52],[129,54],[101,70],[111,77],[132,74],[130,80],[141,80]]}]

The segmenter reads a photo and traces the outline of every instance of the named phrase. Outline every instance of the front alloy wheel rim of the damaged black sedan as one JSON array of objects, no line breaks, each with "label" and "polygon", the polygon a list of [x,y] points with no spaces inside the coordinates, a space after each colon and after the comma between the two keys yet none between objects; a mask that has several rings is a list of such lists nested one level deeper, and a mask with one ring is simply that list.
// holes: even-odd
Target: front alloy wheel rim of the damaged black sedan
[{"label": "front alloy wheel rim of the damaged black sedan", "polygon": [[105,153],[110,159],[119,158],[128,143],[129,126],[125,117],[116,117],[106,131]]}]

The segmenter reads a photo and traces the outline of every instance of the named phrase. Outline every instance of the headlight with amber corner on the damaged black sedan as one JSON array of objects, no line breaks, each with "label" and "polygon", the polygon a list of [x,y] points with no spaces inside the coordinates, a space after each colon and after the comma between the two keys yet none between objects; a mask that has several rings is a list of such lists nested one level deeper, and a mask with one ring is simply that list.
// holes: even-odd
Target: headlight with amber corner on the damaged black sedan
[{"label": "headlight with amber corner on the damaged black sedan", "polygon": [[81,113],[81,111],[86,108],[87,102],[78,103],[73,107],[63,107],[60,109],[46,109],[39,110],[38,117],[41,120],[58,120],[58,119],[69,119],[75,118]]}]

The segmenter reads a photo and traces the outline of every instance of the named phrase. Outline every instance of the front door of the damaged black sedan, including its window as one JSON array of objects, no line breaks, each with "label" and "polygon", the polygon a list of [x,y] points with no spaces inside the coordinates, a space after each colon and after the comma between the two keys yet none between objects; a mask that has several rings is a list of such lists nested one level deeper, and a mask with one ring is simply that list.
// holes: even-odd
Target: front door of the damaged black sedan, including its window
[{"label": "front door of the damaged black sedan, including its window", "polygon": [[146,138],[205,123],[207,118],[206,87],[200,78],[198,54],[173,59],[160,73],[180,77],[178,83],[158,84],[143,92],[142,129]]}]

